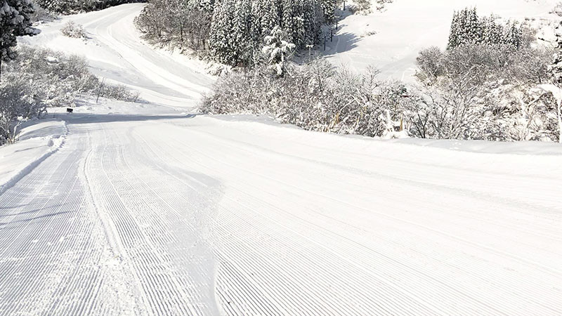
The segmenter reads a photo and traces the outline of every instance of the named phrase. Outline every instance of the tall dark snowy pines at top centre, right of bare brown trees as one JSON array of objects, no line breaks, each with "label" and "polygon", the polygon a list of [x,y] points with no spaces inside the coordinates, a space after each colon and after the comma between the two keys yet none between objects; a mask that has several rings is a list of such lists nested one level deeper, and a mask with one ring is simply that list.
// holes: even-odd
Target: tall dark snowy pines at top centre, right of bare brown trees
[{"label": "tall dark snowy pines at top centre, right of bare brown trees", "polygon": [[[197,1],[202,4],[204,0]],[[263,38],[275,27],[298,48],[318,44],[324,20],[320,1],[215,0],[209,35],[211,55],[230,65],[249,65]]]}]

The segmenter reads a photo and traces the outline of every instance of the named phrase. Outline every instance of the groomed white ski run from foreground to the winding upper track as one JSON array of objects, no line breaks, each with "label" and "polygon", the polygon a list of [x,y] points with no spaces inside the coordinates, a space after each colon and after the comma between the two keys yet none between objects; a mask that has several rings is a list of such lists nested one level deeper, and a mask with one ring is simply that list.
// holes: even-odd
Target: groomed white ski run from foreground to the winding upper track
[{"label": "groomed white ski run from foreground to the winding upper track", "polygon": [[[0,192],[0,315],[562,315],[560,145],[185,114],[213,79],[139,44],[141,8],[30,40],[162,105],[54,114],[64,142]],[[41,156],[14,146],[0,169]]]}]

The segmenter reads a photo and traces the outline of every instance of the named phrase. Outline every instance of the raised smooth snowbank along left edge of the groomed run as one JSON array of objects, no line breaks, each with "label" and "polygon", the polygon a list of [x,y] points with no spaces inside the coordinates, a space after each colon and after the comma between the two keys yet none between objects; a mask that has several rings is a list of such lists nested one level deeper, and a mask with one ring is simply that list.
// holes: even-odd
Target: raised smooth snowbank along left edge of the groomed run
[{"label": "raised smooth snowbank along left edge of the groomed run", "polygon": [[0,147],[0,195],[65,143],[65,121],[48,119],[22,129],[20,141]]}]

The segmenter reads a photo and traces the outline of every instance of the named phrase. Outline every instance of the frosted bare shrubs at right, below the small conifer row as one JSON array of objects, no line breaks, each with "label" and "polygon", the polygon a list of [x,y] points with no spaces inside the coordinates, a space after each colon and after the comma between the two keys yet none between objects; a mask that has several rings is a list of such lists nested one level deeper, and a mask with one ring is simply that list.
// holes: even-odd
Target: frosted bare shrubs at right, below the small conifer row
[{"label": "frosted bare shrubs at right, below the small conifer row", "polygon": [[551,52],[530,46],[464,44],[421,51],[414,136],[485,140],[555,140],[548,81]]}]

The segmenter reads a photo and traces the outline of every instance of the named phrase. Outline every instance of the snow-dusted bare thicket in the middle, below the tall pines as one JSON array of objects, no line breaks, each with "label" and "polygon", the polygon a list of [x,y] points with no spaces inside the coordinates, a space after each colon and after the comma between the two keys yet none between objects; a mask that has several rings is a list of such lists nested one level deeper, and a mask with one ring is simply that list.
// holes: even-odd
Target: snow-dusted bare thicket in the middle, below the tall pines
[{"label": "snow-dusted bare thicket in the middle, below the tall pines", "polygon": [[[211,114],[267,114],[303,129],[386,136],[405,126],[405,86],[377,79],[371,69],[355,74],[325,59],[287,65],[278,76],[267,64],[221,77],[204,98],[201,110]],[[235,101],[234,101],[235,100]]]}]

